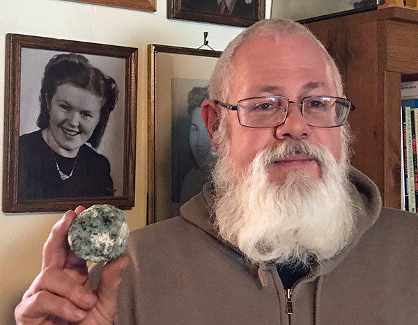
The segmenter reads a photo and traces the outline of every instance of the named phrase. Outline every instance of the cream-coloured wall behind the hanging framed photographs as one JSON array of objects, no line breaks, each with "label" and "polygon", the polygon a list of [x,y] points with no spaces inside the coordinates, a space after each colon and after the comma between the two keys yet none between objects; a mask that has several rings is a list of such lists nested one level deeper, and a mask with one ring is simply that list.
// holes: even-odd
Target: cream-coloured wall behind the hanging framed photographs
[{"label": "cream-coloured wall behind the hanging framed photographs", "polygon": [[[265,2],[269,17],[271,0]],[[204,31],[209,33],[209,45],[222,51],[242,29],[167,19],[167,0],[157,0],[155,13],[65,0],[0,0],[0,125],[4,115],[6,33],[139,48],[136,205],[126,215],[131,230],[143,227],[147,191],[147,45],[199,47],[203,44]],[[0,139],[3,142],[2,130]],[[3,156],[2,146],[0,155]],[[0,213],[0,324],[14,323],[13,310],[38,274],[42,244],[60,217],[57,213]]]}]

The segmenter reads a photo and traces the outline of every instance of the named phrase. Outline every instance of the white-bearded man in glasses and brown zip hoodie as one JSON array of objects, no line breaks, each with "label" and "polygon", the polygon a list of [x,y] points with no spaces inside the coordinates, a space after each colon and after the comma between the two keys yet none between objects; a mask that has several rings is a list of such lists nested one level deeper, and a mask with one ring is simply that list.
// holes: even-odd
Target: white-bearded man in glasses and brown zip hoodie
[{"label": "white-bearded man in glasses and brown zip hoodie", "polygon": [[63,249],[67,212],[17,323],[110,324],[117,309],[117,324],[416,324],[418,219],[381,209],[348,164],[351,104],[323,46],[293,22],[258,22],[219,58],[210,98],[212,184],[132,233],[123,276],[125,258],[93,267],[95,293]]}]

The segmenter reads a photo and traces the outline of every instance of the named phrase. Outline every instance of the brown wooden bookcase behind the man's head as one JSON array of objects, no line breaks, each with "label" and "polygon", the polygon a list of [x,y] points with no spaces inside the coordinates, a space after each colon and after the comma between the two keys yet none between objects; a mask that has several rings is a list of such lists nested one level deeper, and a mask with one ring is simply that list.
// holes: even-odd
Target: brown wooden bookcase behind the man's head
[{"label": "brown wooden bookcase behind the man's head", "polygon": [[418,11],[386,8],[307,24],[343,76],[356,110],[353,166],[380,189],[383,205],[401,205],[401,73],[418,72]]}]

